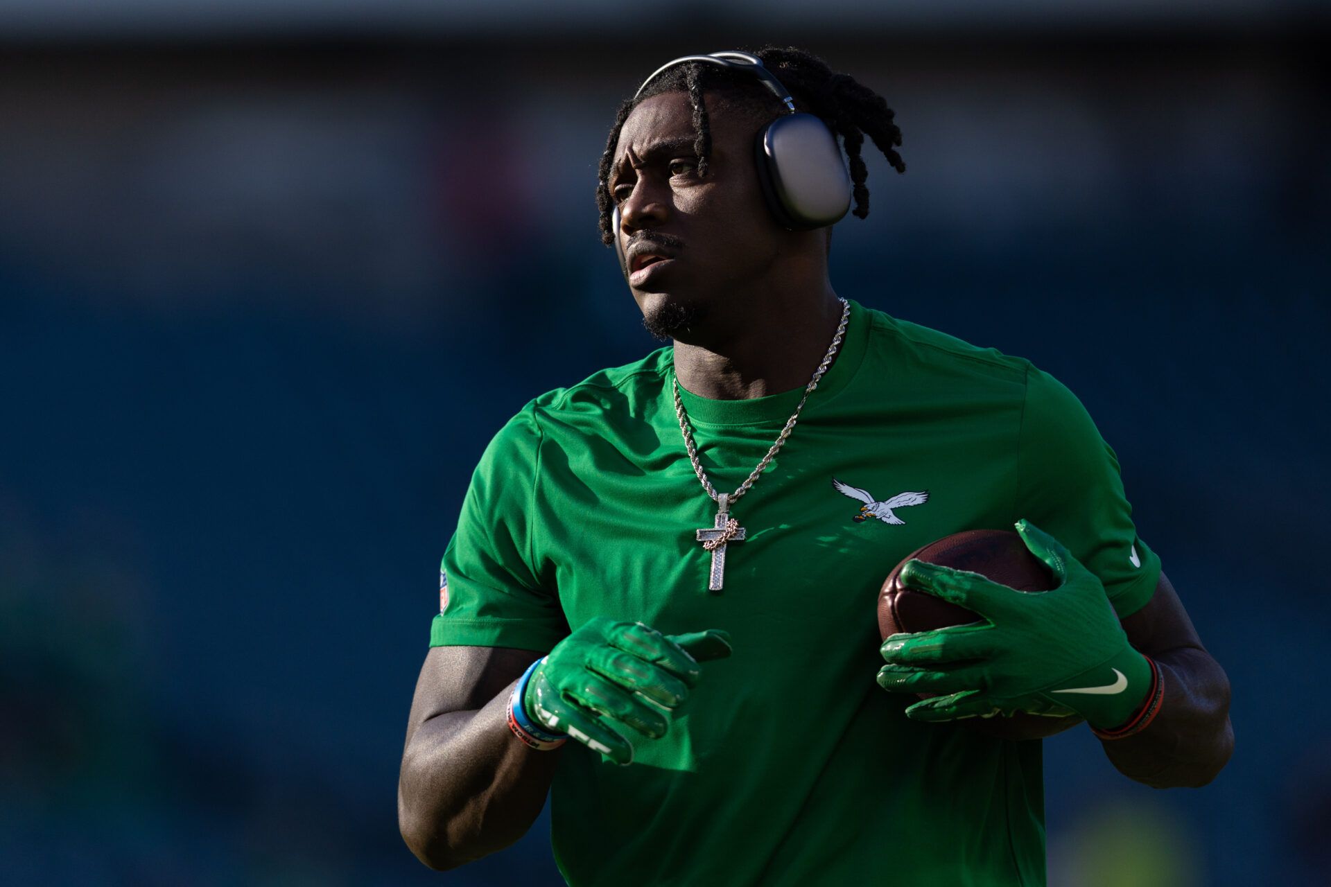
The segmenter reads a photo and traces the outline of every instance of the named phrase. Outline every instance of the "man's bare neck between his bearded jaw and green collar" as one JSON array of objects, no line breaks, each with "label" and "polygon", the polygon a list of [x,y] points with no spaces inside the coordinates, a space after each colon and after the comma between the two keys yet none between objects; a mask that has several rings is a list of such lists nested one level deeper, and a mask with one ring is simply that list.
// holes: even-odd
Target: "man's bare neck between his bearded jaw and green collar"
[{"label": "man's bare neck between his bearded jaw and green collar", "polygon": [[823,295],[764,306],[719,343],[675,340],[675,374],[685,391],[713,400],[748,400],[809,383],[841,322],[831,285]]}]

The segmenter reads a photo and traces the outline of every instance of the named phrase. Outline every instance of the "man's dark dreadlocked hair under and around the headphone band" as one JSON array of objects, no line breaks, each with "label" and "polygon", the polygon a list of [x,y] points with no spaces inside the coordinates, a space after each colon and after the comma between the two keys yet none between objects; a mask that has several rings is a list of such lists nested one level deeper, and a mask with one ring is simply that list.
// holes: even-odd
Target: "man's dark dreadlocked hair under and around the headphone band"
[{"label": "man's dark dreadlocked hair under and around the headphone band", "polygon": [[[816,114],[841,137],[847,160],[851,165],[855,215],[865,218],[869,214],[869,188],[864,184],[869,168],[864,164],[861,149],[865,134],[888,158],[898,173],[906,172],[906,164],[897,153],[901,145],[901,130],[892,118],[894,112],[878,93],[858,82],[849,74],[832,70],[825,61],[811,52],[795,47],[763,47],[752,55],[763,60],[763,65],[776,74],[795,100],[797,110]],[[615,207],[610,193],[610,168],[615,160],[615,145],[624,121],[643,101],[667,92],[688,93],[693,108],[693,153],[697,156],[697,174],[707,176],[708,154],[712,149],[712,132],[707,106],[703,104],[703,90],[712,90],[719,106],[745,113],[755,121],[771,121],[785,112],[785,106],[772,94],[763,81],[745,70],[732,70],[707,63],[691,61],[663,72],[643,94],[626,98],[615,113],[615,125],[610,128],[606,152],[600,156],[600,169],[596,181],[596,209],[600,211],[600,242],[610,246],[615,242],[611,230],[611,213]],[[717,102],[713,102],[717,104]]]}]

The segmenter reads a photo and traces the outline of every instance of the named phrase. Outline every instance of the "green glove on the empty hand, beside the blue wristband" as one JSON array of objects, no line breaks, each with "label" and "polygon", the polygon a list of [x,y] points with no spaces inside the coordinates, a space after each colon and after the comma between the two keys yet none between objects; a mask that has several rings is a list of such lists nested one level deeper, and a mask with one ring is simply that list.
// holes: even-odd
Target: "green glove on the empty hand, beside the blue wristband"
[{"label": "green glove on the empty hand, beside the blue wristband", "polygon": [[652,739],[666,735],[663,711],[697,686],[699,662],[729,654],[729,634],[717,629],[662,634],[642,622],[600,616],[556,644],[536,666],[523,709],[543,729],[567,733],[627,765],[634,746],[623,727]]}]

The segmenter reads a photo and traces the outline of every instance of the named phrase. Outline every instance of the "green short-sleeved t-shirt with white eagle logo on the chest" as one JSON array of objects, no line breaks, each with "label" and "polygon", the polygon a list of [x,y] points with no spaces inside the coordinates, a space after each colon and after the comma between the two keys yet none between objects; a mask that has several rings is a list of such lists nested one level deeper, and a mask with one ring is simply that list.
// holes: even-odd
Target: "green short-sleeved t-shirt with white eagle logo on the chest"
[{"label": "green short-sleeved t-shirt with white eagle logo on the chest", "polygon": [[[847,339],[785,447],[731,515],[725,585],[695,531],[715,503],[688,460],[672,351],[528,403],[471,480],[443,557],[433,645],[548,652],[595,616],[666,633],[719,628],[668,734],[630,731],[620,767],[570,742],[551,787],[572,884],[1044,884],[1040,742],[909,721],[874,682],[878,588],[908,553],[1026,517],[1103,581],[1118,614],[1150,598],[1118,463],[1071,392],[1026,360],[851,303]],[[720,492],[753,469],[801,390],[681,390]],[[860,513],[833,479],[894,511]]]}]

